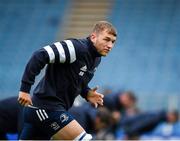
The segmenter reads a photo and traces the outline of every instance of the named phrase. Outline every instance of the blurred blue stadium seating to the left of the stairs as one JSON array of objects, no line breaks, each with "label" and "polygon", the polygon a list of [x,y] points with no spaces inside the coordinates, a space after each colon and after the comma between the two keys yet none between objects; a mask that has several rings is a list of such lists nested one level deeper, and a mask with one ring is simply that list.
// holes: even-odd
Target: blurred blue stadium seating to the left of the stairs
[{"label": "blurred blue stadium seating to the left of the stairs", "polygon": [[0,1],[0,95],[17,95],[32,52],[52,43],[60,31],[68,1]]}]

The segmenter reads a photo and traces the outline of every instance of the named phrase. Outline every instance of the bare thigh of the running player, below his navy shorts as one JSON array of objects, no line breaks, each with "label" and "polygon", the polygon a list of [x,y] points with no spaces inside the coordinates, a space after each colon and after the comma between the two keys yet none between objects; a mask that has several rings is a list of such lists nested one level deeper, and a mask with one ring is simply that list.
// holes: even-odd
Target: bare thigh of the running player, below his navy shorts
[{"label": "bare thigh of the running player, below his navy shorts", "polygon": [[52,139],[54,140],[73,140],[81,133],[85,132],[81,125],[73,120],[65,127],[60,129],[55,135],[53,135]]}]

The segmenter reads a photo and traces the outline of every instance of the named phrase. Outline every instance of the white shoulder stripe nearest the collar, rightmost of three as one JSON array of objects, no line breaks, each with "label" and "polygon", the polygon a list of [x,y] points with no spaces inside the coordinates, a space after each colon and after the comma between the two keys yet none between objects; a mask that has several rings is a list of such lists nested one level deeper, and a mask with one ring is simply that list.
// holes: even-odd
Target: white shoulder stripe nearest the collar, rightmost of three
[{"label": "white shoulder stripe nearest the collar, rightmost of three", "polygon": [[70,54],[70,63],[73,63],[76,60],[76,52],[74,45],[71,40],[64,40],[64,42],[67,44],[69,54]]}]

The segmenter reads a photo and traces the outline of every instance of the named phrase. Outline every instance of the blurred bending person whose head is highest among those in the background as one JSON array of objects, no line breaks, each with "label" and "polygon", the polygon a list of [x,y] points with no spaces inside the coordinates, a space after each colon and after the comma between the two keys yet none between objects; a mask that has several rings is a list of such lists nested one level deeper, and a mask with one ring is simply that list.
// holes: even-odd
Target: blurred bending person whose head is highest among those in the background
[{"label": "blurred bending person whose head is highest among those in the background", "polygon": [[132,91],[119,91],[118,93],[107,94],[104,97],[104,106],[112,111],[112,126],[105,133],[115,139],[116,130],[123,117],[133,116],[139,113],[136,106],[137,98]]}]

